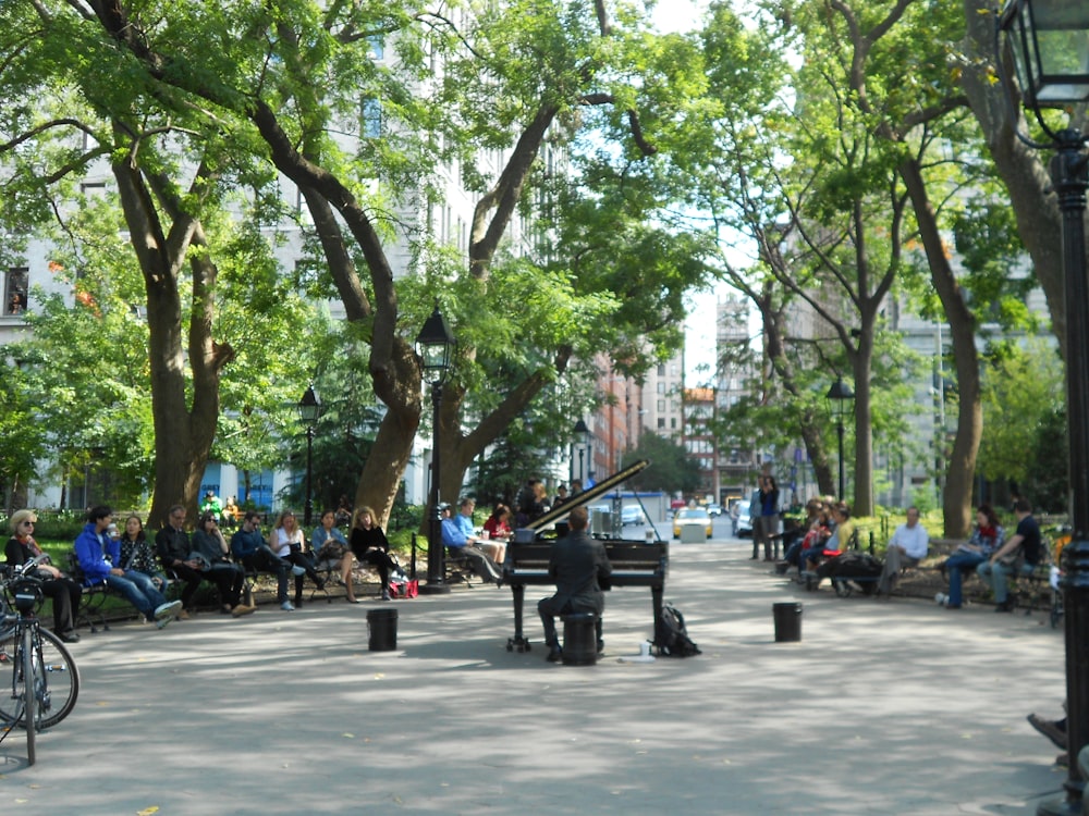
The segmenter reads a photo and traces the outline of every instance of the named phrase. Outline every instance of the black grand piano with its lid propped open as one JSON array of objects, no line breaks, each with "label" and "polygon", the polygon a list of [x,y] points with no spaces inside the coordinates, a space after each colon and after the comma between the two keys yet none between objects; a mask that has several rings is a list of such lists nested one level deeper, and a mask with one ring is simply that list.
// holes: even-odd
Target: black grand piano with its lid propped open
[{"label": "black grand piano with its lid propped open", "polygon": [[[643,459],[613,473],[559,507],[549,510],[526,528],[515,531],[514,540],[506,545],[506,558],[503,561],[503,582],[510,584],[514,598],[514,636],[506,641],[507,652],[514,650],[528,652],[530,650],[529,639],[525,636],[523,630],[526,586],[555,586],[555,582],[548,572],[549,554],[556,536],[553,526],[561,524],[574,508],[619,487],[649,463]],[[604,544],[609,562],[612,565],[609,585],[603,585],[602,589],[649,586],[653,609],[652,621],[657,621],[662,611],[662,595],[665,592],[665,576],[669,572],[669,543],[659,539],[657,533],[654,541],[601,537],[601,543]]]}]

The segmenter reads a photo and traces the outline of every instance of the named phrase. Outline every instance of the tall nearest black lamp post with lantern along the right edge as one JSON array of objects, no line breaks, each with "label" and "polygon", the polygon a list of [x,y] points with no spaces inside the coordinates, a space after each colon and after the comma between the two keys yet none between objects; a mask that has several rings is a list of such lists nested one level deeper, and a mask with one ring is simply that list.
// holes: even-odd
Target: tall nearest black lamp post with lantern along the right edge
[{"label": "tall nearest black lamp post with lantern along the right edge", "polygon": [[[1013,51],[1025,104],[1049,141],[1017,131],[1013,90],[1005,76],[1001,33]],[[1089,3],[1070,0],[1010,0],[999,17],[995,58],[1017,137],[1035,149],[1055,150],[1051,177],[1063,219],[1066,295],[1066,416],[1069,423],[1070,520],[1074,537],[1063,551],[1066,620],[1066,798],[1044,802],[1041,815],[1080,814],[1086,779],[1079,754],[1089,742],[1089,286],[1086,282],[1085,213],[1089,170],[1086,137],[1074,127],[1052,128],[1041,109],[1089,101]],[[1089,752],[1086,757],[1089,758]]]}]

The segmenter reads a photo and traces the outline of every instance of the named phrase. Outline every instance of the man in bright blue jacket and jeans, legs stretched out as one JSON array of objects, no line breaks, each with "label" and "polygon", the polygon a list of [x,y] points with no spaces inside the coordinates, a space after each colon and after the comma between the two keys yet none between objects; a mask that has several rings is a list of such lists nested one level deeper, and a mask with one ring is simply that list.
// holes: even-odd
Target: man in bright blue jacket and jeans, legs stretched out
[{"label": "man in bright blue jacket and jeans, legs stretched out", "polygon": [[181,601],[168,603],[155,586],[155,582],[143,572],[114,567],[121,564],[121,544],[106,534],[113,521],[113,510],[99,505],[87,514],[87,524],[75,540],[75,555],[83,570],[84,583],[94,586],[105,583],[120,593],[144,615],[162,629],[173,620],[182,608]]}]

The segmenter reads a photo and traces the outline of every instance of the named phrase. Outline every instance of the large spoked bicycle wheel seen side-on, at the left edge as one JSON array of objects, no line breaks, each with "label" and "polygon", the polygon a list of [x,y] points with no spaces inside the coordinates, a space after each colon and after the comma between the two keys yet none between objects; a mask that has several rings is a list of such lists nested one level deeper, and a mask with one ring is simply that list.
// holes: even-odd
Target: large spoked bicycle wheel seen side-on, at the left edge
[{"label": "large spoked bicycle wheel seen side-on, at the left edge", "polygon": [[[79,671],[57,635],[40,628],[36,631],[33,650],[35,709],[38,730],[45,731],[64,719],[75,706],[79,696]],[[14,632],[0,633],[0,671],[14,660]],[[15,676],[21,675],[22,671],[15,672]],[[22,725],[22,678],[17,677],[17,683],[13,679],[12,683],[0,689],[0,724]]]}]

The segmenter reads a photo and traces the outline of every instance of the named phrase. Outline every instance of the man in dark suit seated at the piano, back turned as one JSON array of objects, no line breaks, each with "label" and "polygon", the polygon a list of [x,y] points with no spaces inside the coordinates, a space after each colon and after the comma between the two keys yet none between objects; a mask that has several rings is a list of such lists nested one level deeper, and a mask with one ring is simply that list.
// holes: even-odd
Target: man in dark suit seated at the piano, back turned
[{"label": "man in dark suit seated at the piano, back turned", "polygon": [[605,598],[601,584],[608,584],[612,565],[604,545],[586,534],[589,514],[585,507],[576,507],[567,518],[571,532],[552,545],[549,555],[549,574],[555,580],[555,594],[542,598],[537,611],[544,625],[544,642],[549,645],[548,659],[560,659],[560,641],[555,633],[555,617],[568,613],[592,611],[598,616],[598,651],[604,646],[601,640],[601,615],[605,610]]}]

